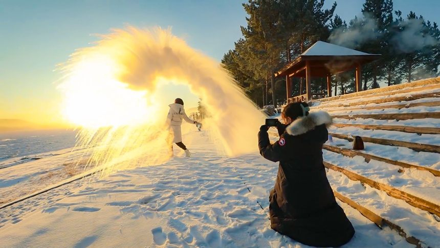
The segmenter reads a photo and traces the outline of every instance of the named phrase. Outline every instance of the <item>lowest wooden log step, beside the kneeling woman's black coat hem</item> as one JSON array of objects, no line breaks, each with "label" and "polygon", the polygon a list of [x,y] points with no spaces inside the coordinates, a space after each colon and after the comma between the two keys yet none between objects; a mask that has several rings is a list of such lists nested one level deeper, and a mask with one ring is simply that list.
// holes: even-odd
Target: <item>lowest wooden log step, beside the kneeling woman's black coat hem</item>
[{"label": "lowest wooden log step, beside the kneeling woman's black coat hem", "polygon": [[394,224],[391,221],[380,217],[379,215],[364,208],[363,206],[359,205],[355,201],[349,199],[348,197],[341,195],[340,193],[338,193],[336,191],[333,191],[333,193],[340,201],[348,204],[349,206],[351,206],[351,208],[354,208],[357,211],[359,211],[359,213],[361,213],[367,219],[371,220],[373,223],[375,223],[377,226],[379,226],[380,229],[383,229],[386,226],[388,226],[391,230],[398,232],[398,234],[401,237],[403,237],[408,243],[414,244],[417,248],[423,247],[420,239],[417,239],[416,237],[413,237],[413,236],[408,237],[408,235],[405,233],[405,231],[403,231],[403,229],[399,225]]}]

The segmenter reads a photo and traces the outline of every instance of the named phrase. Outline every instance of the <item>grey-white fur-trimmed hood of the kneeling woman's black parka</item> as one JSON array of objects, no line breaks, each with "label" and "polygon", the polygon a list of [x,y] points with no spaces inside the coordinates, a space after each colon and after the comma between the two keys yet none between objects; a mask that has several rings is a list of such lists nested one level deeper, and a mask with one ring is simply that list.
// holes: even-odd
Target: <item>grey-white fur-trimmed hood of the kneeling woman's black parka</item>
[{"label": "grey-white fur-trimmed hood of the kneeling woman's black parka", "polygon": [[323,124],[325,124],[326,128],[332,126],[332,116],[327,112],[318,111],[294,120],[285,128],[285,131],[290,135],[296,136],[309,132],[310,130],[315,129],[315,127]]}]

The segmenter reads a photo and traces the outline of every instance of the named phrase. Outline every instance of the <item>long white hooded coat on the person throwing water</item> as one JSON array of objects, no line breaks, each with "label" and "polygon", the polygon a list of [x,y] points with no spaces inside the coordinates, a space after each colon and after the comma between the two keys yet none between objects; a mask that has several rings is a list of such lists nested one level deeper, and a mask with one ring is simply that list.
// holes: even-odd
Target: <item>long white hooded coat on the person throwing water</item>
[{"label": "long white hooded coat on the person throwing water", "polygon": [[185,109],[181,104],[170,104],[169,112],[166,119],[167,125],[170,127],[170,133],[173,134],[173,143],[182,142],[182,121],[185,120],[188,123],[195,123],[185,113]]}]

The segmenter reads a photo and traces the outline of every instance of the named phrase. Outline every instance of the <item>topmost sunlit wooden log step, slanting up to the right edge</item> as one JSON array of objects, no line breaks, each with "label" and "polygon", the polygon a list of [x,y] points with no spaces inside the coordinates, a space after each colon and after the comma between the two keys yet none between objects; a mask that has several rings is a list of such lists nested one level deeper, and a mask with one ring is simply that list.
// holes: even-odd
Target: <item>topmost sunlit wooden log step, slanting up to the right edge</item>
[{"label": "topmost sunlit wooden log step, slanting up to the right edge", "polygon": [[341,99],[355,99],[355,98],[361,98],[365,96],[381,96],[381,95],[390,95],[390,94],[400,94],[400,93],[408,93],[408,92],[415,92],[415,91],[422,91],[422,90],[430,90],[440,87],[440,77],[437,78],[429,78],[424,80],[419,80],[415,82],[409,82],[406,84],[400,84],[400,85],[393,85],[388,86],[384,88],[379,89],[372,89],[372,90],[366,90],[366,91],[360,91],[355,92],[351,94],[346,95],[339,95],[339,96],[333,96],[333,97],[327,97],[319,99],[321,102],[326,101],[337,101]]}]

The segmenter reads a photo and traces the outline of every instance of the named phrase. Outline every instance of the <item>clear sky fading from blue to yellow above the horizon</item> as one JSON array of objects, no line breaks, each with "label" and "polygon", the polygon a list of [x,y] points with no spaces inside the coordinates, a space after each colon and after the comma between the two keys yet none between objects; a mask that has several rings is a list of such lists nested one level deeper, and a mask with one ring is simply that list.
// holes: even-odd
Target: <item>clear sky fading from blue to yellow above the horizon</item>
[{"label": "clear sky fading from blue to yellow above the horizon", "polygon": [[[410,10],[440,23],[438,0],[394,0],[394,9]],[[129,24],[140,28],[172,27],[196,50],[220,61],[241,37],[246,12],[240,0],[0,0],[0,119],[58,122],[61,74],[56,65],[75,49],[91,46],[93,34]],[[247,1],[246,1],[247,2]],[[325,1],[329,8],[335,1]],[[336,14],[347,23],[361,14],[364,0],[336,0]],[[164,102],[185,99],[188,108],[199,100],[186,86],[168,85]]]}]

